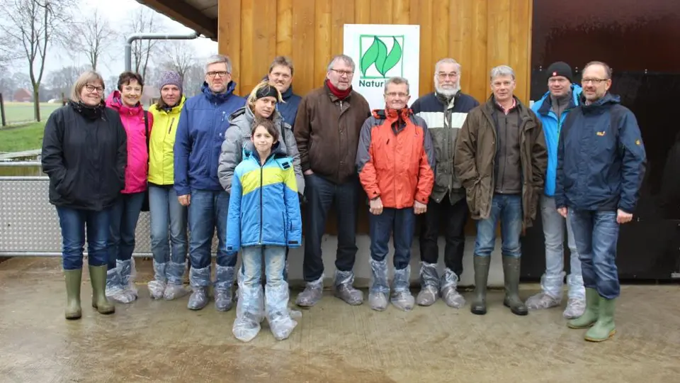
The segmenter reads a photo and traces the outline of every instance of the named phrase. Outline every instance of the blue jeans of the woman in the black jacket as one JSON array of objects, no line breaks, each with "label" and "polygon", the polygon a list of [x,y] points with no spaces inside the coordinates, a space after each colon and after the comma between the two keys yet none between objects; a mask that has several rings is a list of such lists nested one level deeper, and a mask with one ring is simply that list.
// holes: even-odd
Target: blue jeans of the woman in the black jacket
[{"label": "blue jeans of the woman in the black jacket", "polygon": [[108,262],[109,211],[71,209],[57,206],[62,228],[62,261],[64,270],[83,268],[83,247],[87,228],[87,259],[90,266]]}]

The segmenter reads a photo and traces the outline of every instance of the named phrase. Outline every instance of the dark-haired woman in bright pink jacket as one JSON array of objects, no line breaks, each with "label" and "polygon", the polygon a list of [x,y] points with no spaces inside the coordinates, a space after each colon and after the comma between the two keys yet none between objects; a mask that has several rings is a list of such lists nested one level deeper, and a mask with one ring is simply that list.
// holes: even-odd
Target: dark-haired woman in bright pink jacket
[{"label": "dark-haired woman in bright pink jacket", "polygon": [[108,240],[108,272],[106,296],[120,303],[137,299],[132,281],[132,250],[135,250],[135,228],[147,190],[149,150],[147,135],[153,116],[142,108],[140,99],[144,80],[133,72],[118,77],[118,90],[106,99],[106,106],[118,111],[128,134],[128,166],[125,167],[125,189],[111,206],[111,233]]}]

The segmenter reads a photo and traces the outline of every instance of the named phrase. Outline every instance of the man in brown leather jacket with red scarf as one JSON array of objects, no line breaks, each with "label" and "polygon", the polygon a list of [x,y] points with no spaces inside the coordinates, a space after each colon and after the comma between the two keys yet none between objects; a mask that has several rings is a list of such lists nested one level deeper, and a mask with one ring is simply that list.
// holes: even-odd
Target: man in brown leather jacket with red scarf
[{"label": "man in brown leather jacket with red scarf", "polygon": [[323,87],[307,94],[297,108],[293,130],[307,198],[302,266],[307,286],[296,299],[302,307],[314,306],[322,296],[321,240],[331,204],[338,215],[335,295],[348,304],[363,303],[363,293],[353,287],[361,190],[355,162],[359,133],[363,121],[370,116],[370,108],[363,96],[352,89],[355,68],[351,57],[333,57]]}]

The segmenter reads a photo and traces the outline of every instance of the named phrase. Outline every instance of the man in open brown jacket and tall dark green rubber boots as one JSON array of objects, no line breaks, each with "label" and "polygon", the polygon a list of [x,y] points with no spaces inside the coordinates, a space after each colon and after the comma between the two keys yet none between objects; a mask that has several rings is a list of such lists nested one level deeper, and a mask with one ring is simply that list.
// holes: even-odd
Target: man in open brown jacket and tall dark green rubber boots
[{"label": "man in open brown jacket and tall dark green rubber boots", "polygon": [[491,70],[489,100],[467,115],[458,133],[453,166],[463,182],[470,216],[477,221],[475,299],[472,313],[487,312],[489,261],[501,221],[505,300],[516,315],[528,313],[519,298],[522,255],[519,237],[536,218],[548,152],[540,120],[513,95],[515,73],[501,65]]}]

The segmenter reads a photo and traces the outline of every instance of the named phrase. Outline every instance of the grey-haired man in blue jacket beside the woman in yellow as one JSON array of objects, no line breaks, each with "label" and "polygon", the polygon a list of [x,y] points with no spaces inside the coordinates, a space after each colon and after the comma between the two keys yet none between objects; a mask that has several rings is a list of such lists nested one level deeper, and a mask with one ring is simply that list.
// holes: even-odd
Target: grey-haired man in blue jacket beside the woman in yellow
[{"label": "grey-haired man in blue jacket beside the woman in yellow", "polygon": [[205,65],[202,92],[188,99],[179,116],[175,138],[174,188],[182,206],[188,206],[189,282],[193,293],[188,309],[208,304],[212,235],[217,228],[217,272],[215,309],[232,308],[232,285],[237,257],[227,254],[227,211],[229,194],[220,185],[217,163],[229,115],[245,105],[235,95],[229,57],[214,55]]}]

